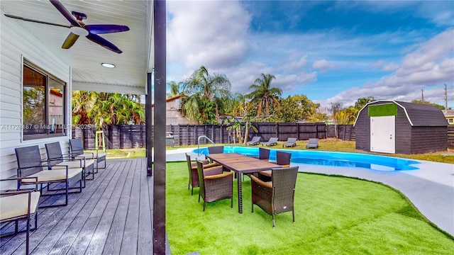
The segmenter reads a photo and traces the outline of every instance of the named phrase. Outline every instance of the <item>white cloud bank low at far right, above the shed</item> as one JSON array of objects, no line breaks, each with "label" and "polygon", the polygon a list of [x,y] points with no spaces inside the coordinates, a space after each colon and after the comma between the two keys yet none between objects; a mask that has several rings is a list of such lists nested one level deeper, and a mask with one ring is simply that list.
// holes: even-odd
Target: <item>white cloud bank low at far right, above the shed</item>
[{"label": "white cloud bank low at far right, above the shed", "polygon": [[[443,101],[443,83],[454,83],[454,30],[445,30],[402,58],[402,65],[379,81],[354,87],[326,99],[328,104],[341,101],[353,104],[358,98],[374,96],[375,99],[412,101],[421,100],[421,89],[433,103]],[[388,65],[389,66],[389,65]],[[438,86],[438,88],[434,88]],[[454,95],[449,92],[449,96]]]}]

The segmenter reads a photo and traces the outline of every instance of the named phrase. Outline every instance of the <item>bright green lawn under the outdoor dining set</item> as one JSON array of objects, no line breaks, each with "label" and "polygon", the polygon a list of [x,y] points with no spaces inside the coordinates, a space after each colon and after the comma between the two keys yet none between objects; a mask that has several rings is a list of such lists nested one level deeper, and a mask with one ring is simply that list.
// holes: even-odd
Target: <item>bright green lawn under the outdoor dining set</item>
[{"label": "bright green lawn under the outdoor dining set", "polygon": [[[367,171],[367,170],[365,170]],[[254,207],[243,181],[243,214],[236,181],[230,200],[197,203],[186,162],[167,164],[166,229],[172,254],[453,254],[454,241],[432,227],[398,192],[379,183],[298,174],[295,217]]]}]

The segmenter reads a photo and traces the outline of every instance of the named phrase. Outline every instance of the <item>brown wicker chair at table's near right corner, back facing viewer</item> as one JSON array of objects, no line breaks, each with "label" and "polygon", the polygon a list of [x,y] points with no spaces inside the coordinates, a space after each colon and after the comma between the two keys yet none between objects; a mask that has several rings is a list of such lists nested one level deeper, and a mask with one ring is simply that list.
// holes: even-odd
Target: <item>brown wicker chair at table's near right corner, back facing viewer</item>
[{"label": "brown wicker chair at table's near right corner, back facing viewer", "polygon": [[295,222],[294,196],[297,183],[298,166],[272,169],[271,182],[261,181],[250,176],[252,190],[252,212],[254,205],[272,217],[272,227],[275,227],[275,215],[282,212],[292,212]]}]

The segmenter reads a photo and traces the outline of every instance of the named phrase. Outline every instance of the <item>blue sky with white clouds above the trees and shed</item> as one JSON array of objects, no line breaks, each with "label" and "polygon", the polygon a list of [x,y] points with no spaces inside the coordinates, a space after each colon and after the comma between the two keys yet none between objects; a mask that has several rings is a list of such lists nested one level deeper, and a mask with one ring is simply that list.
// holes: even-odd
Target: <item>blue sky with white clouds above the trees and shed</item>
[{"label": "blue sky with white clouds above the trees and shed", "polygon": [[167,81],[204,65],[248,93],[273,74],[282,96],[454,108],[454,1],[167,1]]}]

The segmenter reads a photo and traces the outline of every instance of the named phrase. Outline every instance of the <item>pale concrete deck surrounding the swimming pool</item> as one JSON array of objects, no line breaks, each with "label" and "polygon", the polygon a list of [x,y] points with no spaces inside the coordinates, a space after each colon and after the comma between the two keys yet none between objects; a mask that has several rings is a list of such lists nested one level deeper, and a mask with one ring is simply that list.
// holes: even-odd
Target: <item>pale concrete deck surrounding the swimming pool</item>
[{"label": "pale concrete deck surrounding the swimming pool", "polygon": [[[203,158],[192,152],[194,148],[167,150],[167,162],[186,161],[185,153]],[[300,172],[336,174],[378,181],[402,192],[416,208],[440,229],[454,235],[454,164],[415,160],[419,169],[377,171],[371,169],[295,164]]]}]

